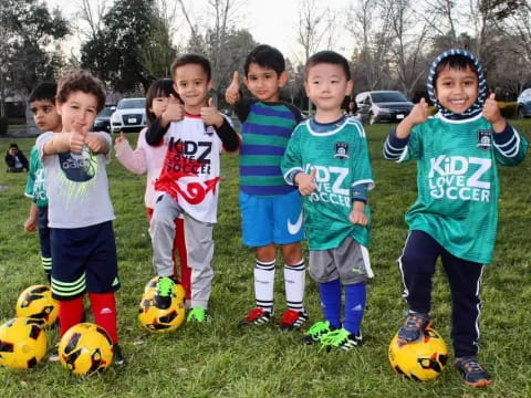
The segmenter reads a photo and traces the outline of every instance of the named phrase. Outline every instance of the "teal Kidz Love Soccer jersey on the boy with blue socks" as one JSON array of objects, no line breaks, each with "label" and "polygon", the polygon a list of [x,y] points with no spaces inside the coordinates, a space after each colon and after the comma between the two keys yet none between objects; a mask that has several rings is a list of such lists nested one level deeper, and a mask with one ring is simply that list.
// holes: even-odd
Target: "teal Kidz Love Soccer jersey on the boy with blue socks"
[{"label": "teal Kidz Love Soccer jersey on the boy with blue socks", "polygon": [[[303,202],[310,250],[339,248],[346,237],[368,247],[369,227],[348,220],[351,192],[356,186],[374,187],[365,130],[357,121],[343,117],[329,125],[302,122],[288,143],[281,168],[288,182],[294,172],[316,169],[316,189]],[[365,212],[369,218],[368,205]]]}]

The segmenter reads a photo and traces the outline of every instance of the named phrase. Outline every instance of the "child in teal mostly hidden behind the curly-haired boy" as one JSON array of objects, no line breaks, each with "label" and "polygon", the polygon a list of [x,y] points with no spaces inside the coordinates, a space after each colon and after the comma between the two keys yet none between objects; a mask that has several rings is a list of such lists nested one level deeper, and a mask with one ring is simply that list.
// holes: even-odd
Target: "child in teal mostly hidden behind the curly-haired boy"
[{"label": "child in teal mostly hidden behind the curly-haired boy", "polygon": [[[61,116],[55,108],[55,93],[58,85],[55,83],[39,84],[30,94],[30,103],[33,121],[41,133],[60,133]],[[30,151],[30,170],[28,174],[28,184],[24,195],[31,198],[30,214],[24,221],[24,230],[35,232],[39,228],[39,242],[41,245],[41,264],[46,275],[48,282],[51,282],[52,274],[52,250],[50,244],[50,228],[48,227],[48,196],[45,187],[44,167],[37,147],[33,146]]]}]

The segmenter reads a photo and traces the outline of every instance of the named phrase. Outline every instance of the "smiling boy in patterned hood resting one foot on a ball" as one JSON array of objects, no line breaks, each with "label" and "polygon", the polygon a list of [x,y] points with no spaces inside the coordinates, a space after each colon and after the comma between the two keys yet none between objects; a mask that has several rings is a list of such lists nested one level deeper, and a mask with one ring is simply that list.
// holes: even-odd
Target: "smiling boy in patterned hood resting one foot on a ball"
[{"label": "smiling boy in patterned hood resting one foot on a ball", "polygon": [[428,118],[423,98],[384,144],[387,159],[417,160],[418,199],[406,213],[409,234],[398,259],[409,305],[398,341],[417,341],[431,324],[431,275],[440,256],[451,292],[456,366],[466,384],[482,387],[491,378],[477,358],[479,287],[496,241],[496,164],[518,165],[528,143],[501,116],[494,94],[487,97],[473,54],[464,50],[440,54],[427,86],[437,115]]}]

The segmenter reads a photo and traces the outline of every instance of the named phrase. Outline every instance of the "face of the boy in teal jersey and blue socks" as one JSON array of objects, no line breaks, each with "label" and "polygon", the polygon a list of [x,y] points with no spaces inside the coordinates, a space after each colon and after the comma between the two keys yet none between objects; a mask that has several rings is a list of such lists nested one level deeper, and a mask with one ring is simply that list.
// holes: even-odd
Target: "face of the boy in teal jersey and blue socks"
[{"label": "face of the boy in teal jersey and blue socks", "polygon": [[347,81],[341,65],[320,63],[308,71],[304,82],[306,95],[320,112],[337,112],[346,95],[352,92],[353,82]]}]

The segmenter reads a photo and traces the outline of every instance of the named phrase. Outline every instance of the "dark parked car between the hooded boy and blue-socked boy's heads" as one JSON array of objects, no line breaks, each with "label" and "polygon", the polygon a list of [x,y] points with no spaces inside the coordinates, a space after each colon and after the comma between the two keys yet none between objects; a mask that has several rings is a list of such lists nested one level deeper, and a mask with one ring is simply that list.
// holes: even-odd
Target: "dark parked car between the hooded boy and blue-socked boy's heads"
[{"label": "dark parked car between the hooded boy and blue-socked boy's heads", "polygon": [[356,115],[363,123],[400,122],[414,104],[397,91],[371,91],[356,95]]}]

